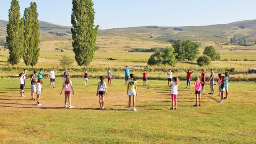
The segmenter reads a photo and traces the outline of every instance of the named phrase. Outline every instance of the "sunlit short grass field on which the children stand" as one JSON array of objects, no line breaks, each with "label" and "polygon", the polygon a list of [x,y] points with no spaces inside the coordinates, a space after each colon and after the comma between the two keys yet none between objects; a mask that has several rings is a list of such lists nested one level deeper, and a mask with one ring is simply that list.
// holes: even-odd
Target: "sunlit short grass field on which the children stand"
[{"label": "sunlit short grass field on which the children stand", "polygon": [[[41,103],[30,101],[27,82],[25,98],[19,96],[18,78],[0,79],[0,143],[255,143],[255,82],[230,82],[229,99],[218,103],[215,95],[202,94],[202,107],[195,104],[194,89],[181,82],[178,110],[170,110],[166,81],[138,81],[137,109],[128,111],[123,80],[113,79],[99,110],[95,96],[98,79],[71,79],[74,109],[64,109],[57,88],[44,79]],[[217,86],[215,86],[217,90]]]}]

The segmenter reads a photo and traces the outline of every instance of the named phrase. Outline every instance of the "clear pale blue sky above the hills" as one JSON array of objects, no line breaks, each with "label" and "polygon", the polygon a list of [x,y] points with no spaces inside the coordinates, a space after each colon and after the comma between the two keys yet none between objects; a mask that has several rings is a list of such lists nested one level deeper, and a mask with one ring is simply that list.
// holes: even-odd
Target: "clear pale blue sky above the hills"
[{"label": "clear pale blue sky above the hills", "polygon": [[[37,2],[39,20],[71,26],[71,0]],[[0,0],[0,20],[8,20],[11,0]],[[100,29],[137,26],[203,26],[256,19],[255,0],[93,0]],[[19,0],[21,14],[30,1]]]}]

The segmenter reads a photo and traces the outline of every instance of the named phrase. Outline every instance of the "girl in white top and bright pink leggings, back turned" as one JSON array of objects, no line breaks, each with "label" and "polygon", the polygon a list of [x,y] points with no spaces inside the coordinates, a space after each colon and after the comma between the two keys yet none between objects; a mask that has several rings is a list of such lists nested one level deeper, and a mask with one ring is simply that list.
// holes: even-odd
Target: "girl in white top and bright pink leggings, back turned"
[{"label": "girl in white top and bright pink leggings, back turned", "polygon": [[[178,86],[180,84],[178,77],[173,77],[170,87],[172,87],[172,107],[171,109],[177,109],[177,96],[178,96]],[[175,105],[174,105],[175,104]]]}]

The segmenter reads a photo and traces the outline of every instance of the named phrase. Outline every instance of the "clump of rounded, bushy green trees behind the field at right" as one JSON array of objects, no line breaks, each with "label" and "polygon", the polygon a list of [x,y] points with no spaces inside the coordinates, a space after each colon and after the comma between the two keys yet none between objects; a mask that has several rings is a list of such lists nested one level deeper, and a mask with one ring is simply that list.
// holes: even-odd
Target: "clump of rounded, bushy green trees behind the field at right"
[{"label": "clump of rounded, bushy green trees behind the field at right", "polygon": [[174,67],[178,61],[194,61],[197,57],[198,66],[210,65],[211,61],[220,60],[220,53],[216,52],[213,46],[207,46],[199,55],[199,44],[192,41],[183,41],[179,39],[172,44],[172,47],[166,47],[164,51],[156,49],[149,60],[148,65],[169,65]]}]

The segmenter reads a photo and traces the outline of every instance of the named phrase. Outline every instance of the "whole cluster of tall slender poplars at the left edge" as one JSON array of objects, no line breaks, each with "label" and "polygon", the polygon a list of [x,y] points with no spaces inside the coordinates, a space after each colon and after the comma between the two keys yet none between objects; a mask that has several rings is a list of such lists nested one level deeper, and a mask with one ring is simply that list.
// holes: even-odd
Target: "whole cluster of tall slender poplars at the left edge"
[{"label": "whole cluster of tall slender poplars at the left edge", "polygon": [[6,43],[9,49],[8,61],[17,65],[21,58],[26,66],[35,66],[39,57],[39,21],[36,3],[31,2],[20,18],[17,0],[11,1],[9,23],[6,27]]}]

